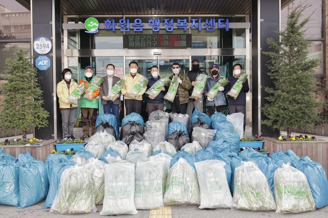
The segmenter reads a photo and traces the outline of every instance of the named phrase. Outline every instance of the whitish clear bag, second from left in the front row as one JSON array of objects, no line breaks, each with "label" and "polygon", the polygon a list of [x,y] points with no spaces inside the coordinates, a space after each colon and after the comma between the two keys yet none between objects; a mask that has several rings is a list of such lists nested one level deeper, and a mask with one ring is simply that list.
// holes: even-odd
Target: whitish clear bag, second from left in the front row
[{"label": "whitish clear bag, second from left in the front row", "polygon": [[100,215],[137,214],[134,205],[134,165],[106,165],[105,197]]}]

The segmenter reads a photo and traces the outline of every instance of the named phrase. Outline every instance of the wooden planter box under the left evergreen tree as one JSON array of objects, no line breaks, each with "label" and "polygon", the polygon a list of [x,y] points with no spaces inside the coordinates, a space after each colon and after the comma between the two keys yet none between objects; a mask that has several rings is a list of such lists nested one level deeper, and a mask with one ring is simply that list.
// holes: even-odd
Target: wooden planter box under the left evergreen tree
[{"label": "wooden planter box under the left evergreen tree", "polygon": [[36,160],[45,162],[48,155],[51,154],[53,150],[55,150],[54,143],[56,140],[48,140],[41,142],[41,146],[32,147],[32,146],[24,146],[24,145],[3,145],[4,153],[11,155],[14,158],[18,158],[19,154],[22,154],[24,151],[30,152],[31,156]]}]

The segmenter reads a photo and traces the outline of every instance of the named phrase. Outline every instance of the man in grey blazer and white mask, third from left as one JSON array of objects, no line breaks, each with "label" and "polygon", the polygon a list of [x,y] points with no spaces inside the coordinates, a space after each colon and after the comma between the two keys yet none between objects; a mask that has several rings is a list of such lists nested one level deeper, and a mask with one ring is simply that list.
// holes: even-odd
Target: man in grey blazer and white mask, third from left
[{"label": "man in grey blazer and white mask, third from left", "polygon": [[101,104],[104,106],[104,113],[113,114],[116,117],[118,126],[120,126],[120,104],[121,92],[114,97],[114,101],[109,100],[106,96],[110,92],[113,85],[115,85],[121,78],[114,76],[115,66],[111,63],[107,64],[107,76],[104,76],[103,83],[100,86]]}]

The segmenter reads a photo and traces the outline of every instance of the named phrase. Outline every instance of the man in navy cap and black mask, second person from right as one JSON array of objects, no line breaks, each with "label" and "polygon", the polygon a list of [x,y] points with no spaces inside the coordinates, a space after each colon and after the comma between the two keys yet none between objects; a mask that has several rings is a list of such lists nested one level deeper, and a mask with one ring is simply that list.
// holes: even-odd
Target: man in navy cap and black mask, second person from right
[{"label": "man in navy cap and black mask, second person from right", "polygon": [[[204,90],[205,95],[207,94],[207,92],[210,89],[213,88],[215,83],[217,83],[222,78],[222,76],[219,75],[220,69],[219,69],[218,64],[213,63],[210,66],[210,72],[211,72],[211,75],[207,78],[206,88]],[[223,86],[219,86],[218,89],[219,89],[219,92],[216,94],[214,99],[207,97],[206,114],[209,117],[215,113],[215,110],[217,110],[217,112],[221,112],[224,114],[224,109],[225,109],[225,104],[226,104],[225,103],[225,89]]]}]

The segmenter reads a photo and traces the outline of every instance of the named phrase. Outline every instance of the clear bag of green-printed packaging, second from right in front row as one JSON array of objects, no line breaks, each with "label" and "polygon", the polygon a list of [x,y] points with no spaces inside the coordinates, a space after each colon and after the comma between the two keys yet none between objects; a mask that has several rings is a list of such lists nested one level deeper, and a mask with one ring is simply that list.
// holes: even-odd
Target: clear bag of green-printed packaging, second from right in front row
[{"label": "clear bag of green-printed packaging, second from right in front row", "polygon": [[252,211],[276,210],[266,177],[252,161],[244,162],[235,169],[233,208]]}]

